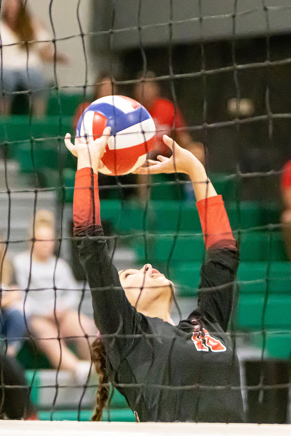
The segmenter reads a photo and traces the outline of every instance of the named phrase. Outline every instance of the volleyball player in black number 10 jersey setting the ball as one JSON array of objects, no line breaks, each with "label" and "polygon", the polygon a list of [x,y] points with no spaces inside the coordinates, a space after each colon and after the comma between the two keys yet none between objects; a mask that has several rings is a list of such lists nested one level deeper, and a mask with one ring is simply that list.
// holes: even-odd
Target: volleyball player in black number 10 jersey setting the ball
[{"label": "volleyball player in black number 10 jersey setting the ball", "polygon": [[173,156],[149,161],[148,168],[139,170],[186,173],[197,198],[207,261],[198,309],[175,326],[170,280],[149,264],[118,274],[111,262],[100,222],[97,177],[109,135],[106,127],[94,143],[77,140],[75,146],[69,134],[65,138],[78,157],[74,231],[102,338],[94,341],[92,351],[100,376],[92,420],[101,418],[111,381],[140,421],[241,422],[239,363],[226,334],[239,254],[222,197],[199,160],[168,136],[164,142]]}]

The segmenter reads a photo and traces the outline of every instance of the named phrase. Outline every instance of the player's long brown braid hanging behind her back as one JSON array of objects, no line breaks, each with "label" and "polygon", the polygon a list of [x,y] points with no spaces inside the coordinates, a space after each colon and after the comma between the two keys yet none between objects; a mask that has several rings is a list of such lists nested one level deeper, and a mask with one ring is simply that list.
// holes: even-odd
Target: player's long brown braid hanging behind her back
[{"label": "player's long brown braid hanging behind her back", "polygon": [[109,397],[109,378],[106,371],[106,350],[99,337],[91,345],[91,359],[99,375],[98,389],[96,393],[96,406],[91,421],[100,421],[103,408]]}]

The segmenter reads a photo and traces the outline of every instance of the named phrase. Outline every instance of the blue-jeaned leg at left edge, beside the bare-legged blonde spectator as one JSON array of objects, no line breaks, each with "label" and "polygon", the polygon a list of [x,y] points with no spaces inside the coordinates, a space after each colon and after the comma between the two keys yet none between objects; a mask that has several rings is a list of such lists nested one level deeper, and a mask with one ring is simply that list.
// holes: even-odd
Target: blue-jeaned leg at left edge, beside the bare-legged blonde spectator
[{"label": "blue-jeaned leg at left edge, beside the bare-legged blonde spectator", "polygon": [[15,356],[21,347],[22,338],[24,337],[26,331],[24,316],[20,310],[16,310],[12,307],[5,309],[5,315],[7,354]]}]

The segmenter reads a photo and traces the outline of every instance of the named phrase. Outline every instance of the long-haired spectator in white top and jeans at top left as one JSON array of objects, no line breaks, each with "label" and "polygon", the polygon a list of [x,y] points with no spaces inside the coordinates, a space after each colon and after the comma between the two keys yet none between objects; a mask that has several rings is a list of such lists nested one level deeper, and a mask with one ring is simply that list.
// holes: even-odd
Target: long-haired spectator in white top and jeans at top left
[{"label": "long-haired spectator in white top and jeans at top left", "polygon": [[[43,62],[54,62],[55,49],[48,41],[51,35],[41,23],[31,16],[24,0],[5,0],[1,4],[0,34],[2,48],[2,75],[0,83],[5,93],[0,100],[0,113],[9,114],[12,92],[18,87],[32,91],[32,109],[36,116],[45,113],[44,89],[48,81],[41,71]],[[27,61],[28,58],[28,61]],[[68,63],[68,58],[57,51],[56,61]]]}]

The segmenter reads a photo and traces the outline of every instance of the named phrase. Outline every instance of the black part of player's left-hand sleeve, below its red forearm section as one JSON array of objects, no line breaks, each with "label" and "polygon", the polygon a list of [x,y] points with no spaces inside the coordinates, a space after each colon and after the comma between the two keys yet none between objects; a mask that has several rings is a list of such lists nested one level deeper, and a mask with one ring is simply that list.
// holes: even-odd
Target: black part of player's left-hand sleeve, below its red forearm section
[{"label": "black part of player's left-hand sleeve, below its red forearm section", "polygon": [[95,324],[104,335],[105,343],[114,343],[123,354],[133,344],[134,335],[140,332],[142,315],[127,300],[102,227],[87,229],[87,235],[78,237],[77,241],[80,262],[92,294]]}]

